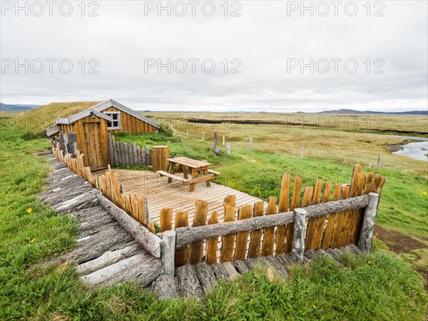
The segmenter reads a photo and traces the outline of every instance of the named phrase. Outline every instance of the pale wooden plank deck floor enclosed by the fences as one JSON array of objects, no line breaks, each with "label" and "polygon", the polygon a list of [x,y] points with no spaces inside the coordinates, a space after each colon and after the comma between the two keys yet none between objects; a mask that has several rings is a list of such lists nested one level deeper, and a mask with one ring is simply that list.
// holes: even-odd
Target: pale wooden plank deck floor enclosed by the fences
[{"label": "pale wooden plank deck floor enclosed by the fences", "polygon": [[[179,210],[187,210],[189,225],[192,225],[196,200],[208,202],[208,218],[213,210],[217,210],[219,222],[223,222],[223,200],[227,195],[236,196],[237,208],[246,204],[253,205],[260,201],[259,198],[217,183],[212,183],[210,187],[207,187],[205,182],[196,183],[195,192],[189,192],[189,187],[183,185],[182,182],[173,180],[172,183],[168,184],[167,177],[151,171],[113,169],[113,172],[119,173],[121,176],[123,193],[146,194],[149,217],[157,223],[159,223],[159,213],[162,208],[173,208],[174,214]],[[103,171],[100,170],[93,174],[100,175],[102,173]],[[266,207],[267,203],[265,203]],[[174,218],[175,215],[173,215],[173,224]]]}]

